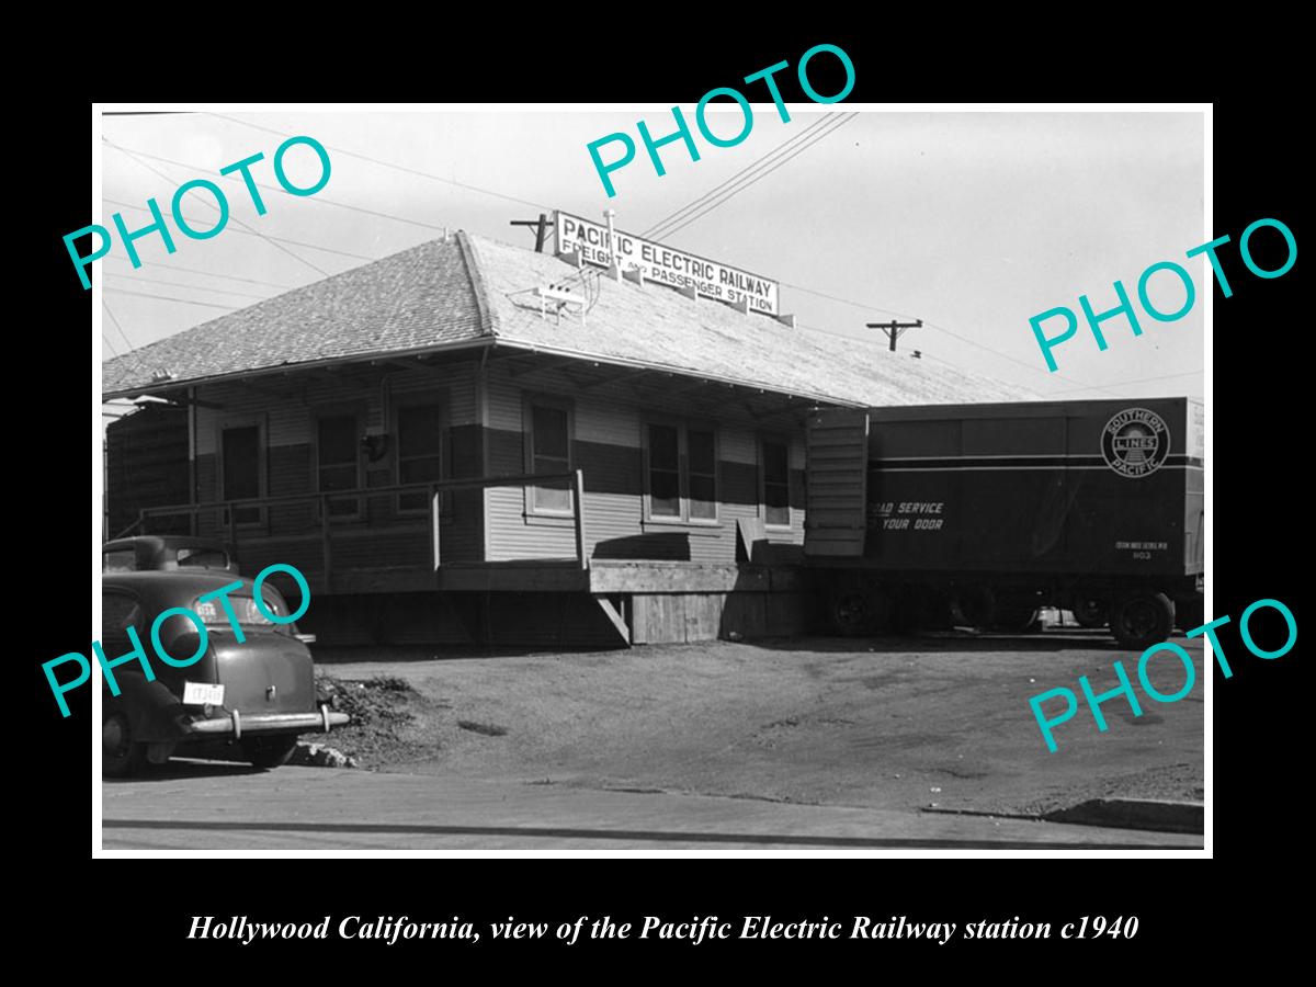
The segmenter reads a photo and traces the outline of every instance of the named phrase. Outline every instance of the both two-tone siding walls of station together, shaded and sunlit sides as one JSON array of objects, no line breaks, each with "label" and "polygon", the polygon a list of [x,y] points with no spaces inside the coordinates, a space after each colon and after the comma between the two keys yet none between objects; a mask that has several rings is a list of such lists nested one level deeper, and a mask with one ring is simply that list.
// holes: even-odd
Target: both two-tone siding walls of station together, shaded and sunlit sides
[{"label": "both two-tone siding walls of station together, shaded and sunlit sides", "polygon": [[[522,370],[524,370],[524,365]],[[801,544],[804,536],[804,429],[792,418],[763,424],[741,403],[687,392],[649,390],[637,396],[625,383],[576,386],[562,371],[513,374],[492,361],[483,380],[475,362],[416,370],[357,368],[337,374],[257,379],[251,386],[201,388],[203,401],[221,408],[196,412],[196,499],[220,500],[220,430],[226,424],[259,422],[266,432],[266,492],[270,496],[315,491],[315,420],[321,411],[355,408],[365,428],[392,432],[391,408],[411,395],[446,397],[445,471],[450,478],[519,475],[525,461],[524,408],[534,395],[557,397],[572,408],[572,466],[584,471],[586,549],[612,559],[675,559],[728,565],[737,561],[737,521],[761,519],[759,438],[780,436],[790,443],[791,525],[774,529],[776,542]],[[690,382],[674,378],[674,387]],[[722,393],[713,391],[713,393]],[[729,391],[726,392],[729,395]],[[387,405],[387,407],[386,407]],[[803,409],[801,409],[803,412]],[[386,417],[390,420],[386,421]],[[717,430],[717,524],[644,520],[644,422],[649,418],[713,425]],[[393,440],[396,442],[396,437]],[[366,486],[395,482],[396,446],[378,463],[365,462]],[[516,562],[572,558],[575,541],[567,517],[532,516],[520,486],[447,495],[441,532],[446,562]],[[384,569],[421,569],[429,561],[428,521],[399,516],[388,495],[367,497],[363,517],[332,525],[332,561],[341,574]],[[218,512],[203,516],[199,534],[226,536]],[[268,508],[265,521],[238,529],[243,566],[288,562],[308,576],[321,569],[320,521],[313,504]],[[253,546],[259,553],[251,554]],[[268,558],[266,558],[268,555]],[[346,584],[343,590],[349,588]],[[359,584],[358,588],[384,588]]]}]

